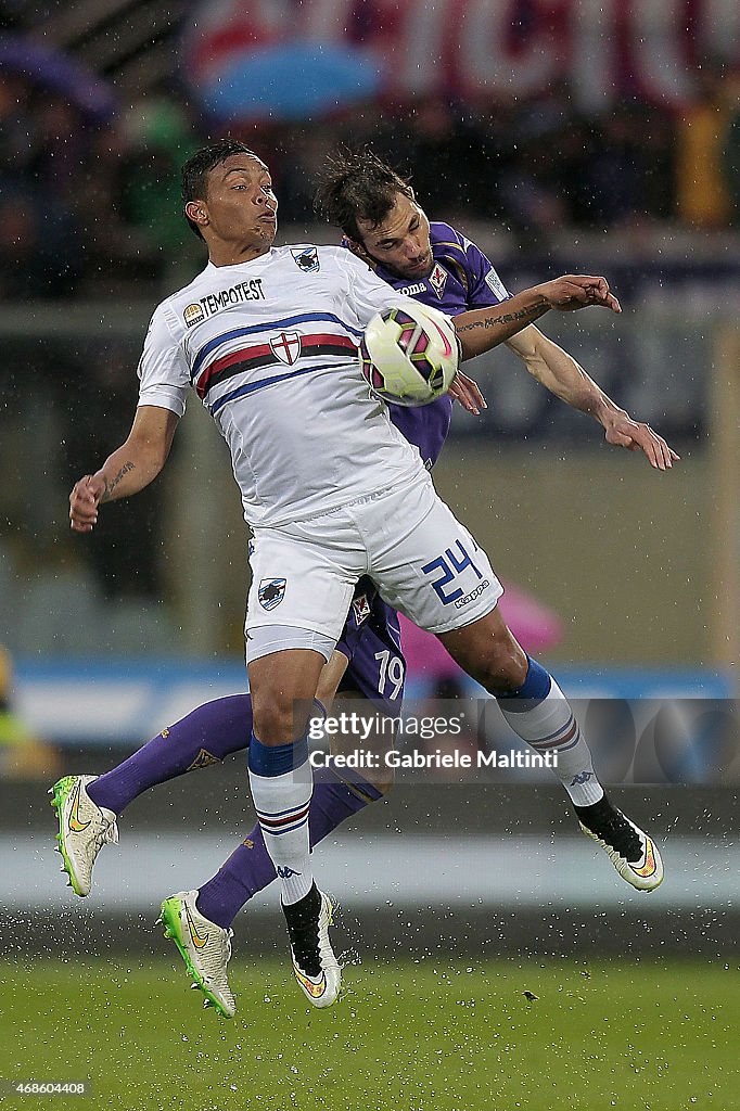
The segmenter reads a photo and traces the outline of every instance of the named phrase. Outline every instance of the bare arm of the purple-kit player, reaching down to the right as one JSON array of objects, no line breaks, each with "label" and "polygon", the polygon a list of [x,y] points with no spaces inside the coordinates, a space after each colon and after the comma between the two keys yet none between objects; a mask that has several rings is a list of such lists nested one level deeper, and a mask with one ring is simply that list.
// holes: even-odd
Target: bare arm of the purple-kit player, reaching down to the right
[{"label": "bare arm of the purple-kit player, reaching down to the right", "polygon": [[546,389],[573,409],[580,409],[598,420],[608,443],[644,452],[650,466],[660,471],[672,467],[679,458],[649,424],[632,420],[620,409],[572,356],[543,336],[539,328],[526,328],[508,340],[507,346],[524,361],[530,374]]}]

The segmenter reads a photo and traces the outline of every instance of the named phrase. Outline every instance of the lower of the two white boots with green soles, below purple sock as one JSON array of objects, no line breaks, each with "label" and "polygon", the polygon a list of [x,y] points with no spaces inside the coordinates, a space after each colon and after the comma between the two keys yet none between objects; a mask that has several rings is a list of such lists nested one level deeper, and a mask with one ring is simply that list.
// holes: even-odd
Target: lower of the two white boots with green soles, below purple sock
[{"label": "lower of the two white boots with green soles, below purple sock", "polygon": [[233,930],[209,922],[196,905],[198,891],[178,891],[162,903],[157,921],[164,925],[164,937],[180,950],[193,988],[206,997],[204,1007],[213,1007],[224,1019],[232,1019],[237,1004],[227,979]]}]

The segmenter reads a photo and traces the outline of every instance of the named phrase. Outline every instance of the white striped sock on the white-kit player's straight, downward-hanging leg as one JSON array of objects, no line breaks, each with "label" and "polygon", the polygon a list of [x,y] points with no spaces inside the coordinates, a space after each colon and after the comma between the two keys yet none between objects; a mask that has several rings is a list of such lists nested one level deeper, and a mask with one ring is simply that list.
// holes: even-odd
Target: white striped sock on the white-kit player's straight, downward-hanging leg
[{"label": "white striped sock on the white-kit player's straight, downward-hanging leg", "polygon": [[308,761],[283,775],[257,775],[249,783],[264,847],[282,885],[284,905],[298,902],[313,885],[308,814],[313,791]]}]

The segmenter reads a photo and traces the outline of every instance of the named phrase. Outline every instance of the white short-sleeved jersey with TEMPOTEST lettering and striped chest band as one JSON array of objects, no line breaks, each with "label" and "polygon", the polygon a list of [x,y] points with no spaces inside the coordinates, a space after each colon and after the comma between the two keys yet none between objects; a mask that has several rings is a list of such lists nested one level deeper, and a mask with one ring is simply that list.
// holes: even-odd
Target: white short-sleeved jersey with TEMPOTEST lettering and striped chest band
[{"label": "white short-sleeved jersey with TEMPOTEST lettering and striped chest band", "polygon": [[154,311],[139,404],[182,416],[193,388],[229,444],[252,526],[306,520],[424,474],[359,368],[370,318],[401,297],[338,247],[206,267]]}]

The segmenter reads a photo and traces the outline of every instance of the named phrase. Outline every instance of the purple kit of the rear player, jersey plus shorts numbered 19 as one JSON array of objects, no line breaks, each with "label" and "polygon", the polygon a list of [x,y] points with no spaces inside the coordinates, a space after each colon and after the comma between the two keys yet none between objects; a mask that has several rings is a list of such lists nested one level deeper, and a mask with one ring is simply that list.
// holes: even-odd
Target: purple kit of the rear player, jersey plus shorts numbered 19
[{"label": "purple kit of the rear player, jersey plus shorts numbered 19", "polygon": [[[380,266],[376,268],[378,277],[399,293],[450,317],[507,300],[508,290],[474,243],[449,223],[430,224],[430,239],[434,264],[429,278],[410,282],[408,278],[396,278]],[[422,461],[431,470],[450,431],[452,398],[444,396],[417,408],[393,404],[388,408],[396,427],[419,449]],[[339,690],[359,691],[384,713],[397,717],[401,710],[406,669],[398,613],[382,600],[368,578],[360,579],[356,587],[339,648],[350,657]]]}]

